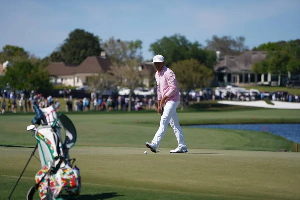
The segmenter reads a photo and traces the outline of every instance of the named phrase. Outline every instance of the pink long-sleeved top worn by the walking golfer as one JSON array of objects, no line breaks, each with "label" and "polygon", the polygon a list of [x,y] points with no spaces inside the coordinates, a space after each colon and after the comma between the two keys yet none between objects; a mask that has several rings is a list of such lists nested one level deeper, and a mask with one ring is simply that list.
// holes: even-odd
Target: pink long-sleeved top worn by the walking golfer
[{"label": "pink long-sleeved top worn by the walking golfer", "polygon": [[169,97],[168,101],[180,101],[179,89],[175,73],[163,66],[161,72],[156,72],[155,79],[157,81],[157,99],[161,100],[164,96]]}]

